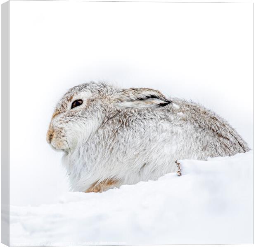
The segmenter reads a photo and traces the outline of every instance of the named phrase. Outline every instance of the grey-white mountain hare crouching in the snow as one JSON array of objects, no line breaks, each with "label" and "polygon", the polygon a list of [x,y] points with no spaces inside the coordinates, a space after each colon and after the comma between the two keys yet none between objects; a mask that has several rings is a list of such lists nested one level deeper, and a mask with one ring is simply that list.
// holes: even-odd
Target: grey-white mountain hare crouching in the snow
[{"label": "grey-white mountain hare crouching in the snow", "polygon": [[59,101],[47,142],[64,151],[71,188],[84,192],[156,180],[175,172],[178,159],[249,151],[227,121],[201,105],[154,89],[94,82]]}]

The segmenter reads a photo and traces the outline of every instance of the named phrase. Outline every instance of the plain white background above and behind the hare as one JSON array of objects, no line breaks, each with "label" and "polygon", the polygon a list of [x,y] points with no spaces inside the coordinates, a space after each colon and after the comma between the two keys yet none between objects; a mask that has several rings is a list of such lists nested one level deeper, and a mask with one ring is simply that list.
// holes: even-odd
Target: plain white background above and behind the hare
[{"label": "plain white background above and behind the hare", "polygon": [[197,101],[253,148],[252,4],[11,1],[10,13],[10,204],[68,190],[46,132],[63,93],[90,80]]}]

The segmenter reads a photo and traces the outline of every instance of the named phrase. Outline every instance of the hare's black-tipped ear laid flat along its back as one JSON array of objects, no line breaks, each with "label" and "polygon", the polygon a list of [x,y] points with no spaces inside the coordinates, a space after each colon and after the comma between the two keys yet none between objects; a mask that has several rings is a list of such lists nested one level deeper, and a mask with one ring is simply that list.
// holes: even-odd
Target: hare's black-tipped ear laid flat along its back
[{"label": "hare's black-tipped ear laid flat along its back", "polygon": [[120,108],[130,107],[164,107],[171,103],[165,96],[154,89],[123,89],[119,98],[118,106]]}]

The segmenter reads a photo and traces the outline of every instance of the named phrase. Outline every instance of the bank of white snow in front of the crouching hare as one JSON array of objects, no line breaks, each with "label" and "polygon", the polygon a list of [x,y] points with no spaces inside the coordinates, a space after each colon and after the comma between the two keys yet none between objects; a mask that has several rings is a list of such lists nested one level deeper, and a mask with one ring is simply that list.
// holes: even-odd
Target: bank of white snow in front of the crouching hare
[{"label": "bank of white snow in front of the crouching hare", "polygon": [[180,177],[10,206],[10,246],[253,243],[253,151],[179,162]]}]

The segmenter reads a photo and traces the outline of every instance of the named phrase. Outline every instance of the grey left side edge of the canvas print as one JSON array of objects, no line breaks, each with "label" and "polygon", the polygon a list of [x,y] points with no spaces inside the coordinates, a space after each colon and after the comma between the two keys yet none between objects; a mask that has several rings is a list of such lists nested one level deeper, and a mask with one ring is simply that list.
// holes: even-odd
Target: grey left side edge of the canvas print
[{"label": "grey left side edge of the canvas print", "polygon": [[1,5],[1,242],[9,246],[9,1]]}]

